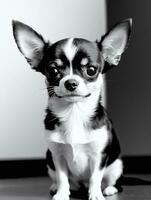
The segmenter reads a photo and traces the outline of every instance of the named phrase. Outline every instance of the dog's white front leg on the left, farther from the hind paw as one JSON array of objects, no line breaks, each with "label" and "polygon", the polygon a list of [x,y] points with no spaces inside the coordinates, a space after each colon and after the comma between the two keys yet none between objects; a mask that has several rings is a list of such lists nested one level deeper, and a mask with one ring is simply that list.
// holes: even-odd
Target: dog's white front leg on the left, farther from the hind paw
[{"label": "dog's white front leg on the left, farther from the hind paw", "polygon": [[52,200],[69,200],[70,190],[66,162],[63,156],[56,154],[53,156],[53,161],[56,168],[57,193]]}]

